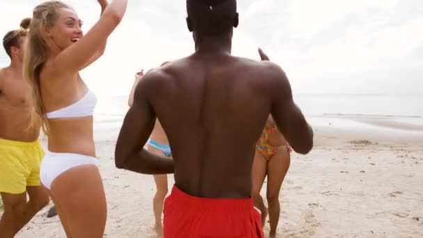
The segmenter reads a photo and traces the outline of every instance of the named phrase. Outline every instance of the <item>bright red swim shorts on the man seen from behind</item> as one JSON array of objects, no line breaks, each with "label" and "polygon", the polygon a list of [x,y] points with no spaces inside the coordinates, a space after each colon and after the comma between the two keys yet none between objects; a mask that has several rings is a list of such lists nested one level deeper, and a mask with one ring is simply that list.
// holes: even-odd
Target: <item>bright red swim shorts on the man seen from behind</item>
[{"label": "bright red swim shorts on the man seen from behind", "polygon": [[174,186],[163,214],[164,238],[264,237],[260,213],[251,198],[198,198]]}]

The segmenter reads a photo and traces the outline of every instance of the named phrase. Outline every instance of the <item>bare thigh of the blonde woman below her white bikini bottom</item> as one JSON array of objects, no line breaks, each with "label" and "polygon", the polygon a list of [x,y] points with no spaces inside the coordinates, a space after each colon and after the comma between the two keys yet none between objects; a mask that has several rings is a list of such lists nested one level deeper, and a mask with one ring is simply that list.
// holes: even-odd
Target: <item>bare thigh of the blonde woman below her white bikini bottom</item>
[{"label": "bare thigh of the blonde woman below her white bikini bottom", "polygon": [[107,207],[97,166],[83,165],[65,171],[51,184],[51,194],[72,237],[103,237]]}]

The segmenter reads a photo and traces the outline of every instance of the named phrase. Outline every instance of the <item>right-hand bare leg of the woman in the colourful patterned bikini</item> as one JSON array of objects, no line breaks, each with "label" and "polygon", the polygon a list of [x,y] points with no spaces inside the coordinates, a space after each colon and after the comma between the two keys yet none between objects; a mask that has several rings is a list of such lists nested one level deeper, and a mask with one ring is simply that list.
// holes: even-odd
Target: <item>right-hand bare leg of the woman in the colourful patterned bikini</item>
[{"label": "right-hand bare leg of the woman in the colourful patterned bikini", "polygon": [[267,203],[269,205],[269,238],[276,237],[280,216],[279,193],[285,175],[288,172],[291,157],[287,148],[282,148],[271,157],[267,172]]}]

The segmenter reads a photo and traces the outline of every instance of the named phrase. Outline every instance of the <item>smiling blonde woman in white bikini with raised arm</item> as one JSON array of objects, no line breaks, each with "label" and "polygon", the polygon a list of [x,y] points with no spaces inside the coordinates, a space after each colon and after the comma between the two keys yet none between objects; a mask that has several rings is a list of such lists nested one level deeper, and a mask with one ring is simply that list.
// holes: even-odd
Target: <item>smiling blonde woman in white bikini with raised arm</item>
[{"label": "smiling blonde woman in white bikini with raised arm", "polygon": [[48,136],[40,179],[67,237],[100,238],[106,225],[106,197],[93,140],[97,100],[79,71],[102,56],[127,0],[98,2],[102,15],[86,35],[81,19],[65,3],[46,1],[36,6],[24,56],[24,77]]}]

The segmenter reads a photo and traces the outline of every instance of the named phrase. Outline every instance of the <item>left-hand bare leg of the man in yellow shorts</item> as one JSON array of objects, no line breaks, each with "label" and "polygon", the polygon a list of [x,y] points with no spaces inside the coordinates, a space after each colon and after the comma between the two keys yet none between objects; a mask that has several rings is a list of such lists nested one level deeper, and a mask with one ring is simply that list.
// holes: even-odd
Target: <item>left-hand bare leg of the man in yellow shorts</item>
[{"label": "left-hand bare leg of the man in yellow shorts", "polygon": [[13,238],[25,221],[26,193],[1,193],[4,212],[0,219],[1,238]]}]

